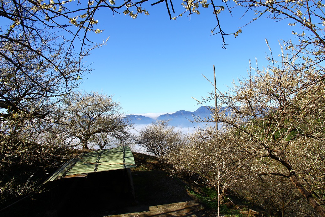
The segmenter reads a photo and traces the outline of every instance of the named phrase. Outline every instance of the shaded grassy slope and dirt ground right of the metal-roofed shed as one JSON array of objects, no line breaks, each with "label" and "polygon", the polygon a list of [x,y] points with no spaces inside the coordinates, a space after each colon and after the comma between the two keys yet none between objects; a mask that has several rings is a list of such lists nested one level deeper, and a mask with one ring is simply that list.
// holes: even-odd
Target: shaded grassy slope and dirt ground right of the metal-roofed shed
[{"label": "shaded grassy slope and dirt ground right of the metal-roofed shed", "polygon": [[[108,216],[217,216],[215,192],[206,191],[205,186],[195,183],[197,177],[171,177],[169,169],[162,169],[153,156],[133,155],[137,165],[132,169],[137,203],[108,212]],[[223,205],[220,216],[241,217],[244,216],[240,213],[242,209],[245,210],[245,206],[227,209]],[[250,213],[250,216],[254,215]]]}]

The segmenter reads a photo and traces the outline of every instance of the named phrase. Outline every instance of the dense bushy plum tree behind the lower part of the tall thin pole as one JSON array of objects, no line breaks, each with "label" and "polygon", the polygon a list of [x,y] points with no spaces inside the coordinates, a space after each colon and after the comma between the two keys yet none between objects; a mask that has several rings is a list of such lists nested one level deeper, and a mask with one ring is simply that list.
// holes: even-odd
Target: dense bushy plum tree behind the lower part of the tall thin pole
[{"label": "dense bushy plum tree behind the lower part of the tall thin pole", "polygon": [[250,153],[230,131],[220,132],[213,127],[197,129],[189,142],[166,156],[173,166],[172,173],[198,175],[203,184],[218,189],[221,202],[234,181],[243,179]]}]

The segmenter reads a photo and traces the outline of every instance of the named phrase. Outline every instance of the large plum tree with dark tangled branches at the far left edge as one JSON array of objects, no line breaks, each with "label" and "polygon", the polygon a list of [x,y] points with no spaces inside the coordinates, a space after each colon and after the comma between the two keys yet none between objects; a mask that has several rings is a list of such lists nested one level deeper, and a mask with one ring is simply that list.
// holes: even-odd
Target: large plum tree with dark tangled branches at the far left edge
[{"label": "large plum tree with dark tangled branches at the far left edge", "polygon": [[[34,33],[11,31],[10,36],[13,41],[0,41],[1,159],[32,165],[34,159],[43,159],[42,151],[55,149],[45,148],[51,141],[43,135],[51,121],[58,120],[56,105],[62,96],[78,85],[78,76],[88,69],[56,35],[44,35],[43,44]],[[22,45],[31,40],[37,50]],[[38,52],[48,56],[40,57]]]}]

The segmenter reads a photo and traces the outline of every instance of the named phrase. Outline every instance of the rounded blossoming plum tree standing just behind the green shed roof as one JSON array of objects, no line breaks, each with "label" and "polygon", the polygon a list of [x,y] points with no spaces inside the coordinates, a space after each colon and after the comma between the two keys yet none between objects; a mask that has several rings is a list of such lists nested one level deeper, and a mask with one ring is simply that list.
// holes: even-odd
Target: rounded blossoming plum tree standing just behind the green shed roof
[{"label": "rounded blossoming plum tree standing just behind the green shed roof", "polygon": [[131,124],[123,118],[121,107],[112,100],[112,95],[75,92],[64,100],[63,109],[66,132],[72,139],[77,138],[83,149],[89,148],[88,142],[97,134],[106,136],[104,147],[107,136],[123,139],[129,135]]}]

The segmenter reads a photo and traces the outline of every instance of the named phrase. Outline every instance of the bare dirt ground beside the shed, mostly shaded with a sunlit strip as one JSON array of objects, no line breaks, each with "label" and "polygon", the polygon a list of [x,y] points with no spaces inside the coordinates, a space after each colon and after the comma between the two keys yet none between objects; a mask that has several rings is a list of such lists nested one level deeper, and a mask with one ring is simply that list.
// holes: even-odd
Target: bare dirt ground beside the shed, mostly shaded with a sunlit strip
[{"label": "bare dirt ground beside the shed, mostly shaded with a sunlit strip", "polygon": [[186,189],[161,170],[134,171],[136,203],[107,212],[110,217],[206,216]]}]

